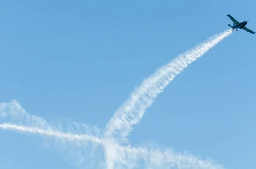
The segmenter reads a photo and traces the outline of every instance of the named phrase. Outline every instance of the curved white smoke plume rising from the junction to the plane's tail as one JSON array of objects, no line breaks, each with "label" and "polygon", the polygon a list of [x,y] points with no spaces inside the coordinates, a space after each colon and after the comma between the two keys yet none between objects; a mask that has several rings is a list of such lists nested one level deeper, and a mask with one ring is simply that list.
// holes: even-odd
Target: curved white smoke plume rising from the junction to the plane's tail
[{"label": "curved white smoke plume rising from the junction to the plane's tail", "polygon": [[157,69],[157,71],[145,79],[143,83],[131,93],[130,98],[117,109],[114,116],[106,125],[104,136],[113,137],[115,134],[119,139],[127,141],[126,137],[133,129],[132,126],[140,122],[145,110],[154,103],[154,99],[157,95],[163,92],[163,89],[190,63],[203,56],[209,49],[230,34],[232,34],[231,29],[221,32],[195,48],[180,54],[160,69]]}]

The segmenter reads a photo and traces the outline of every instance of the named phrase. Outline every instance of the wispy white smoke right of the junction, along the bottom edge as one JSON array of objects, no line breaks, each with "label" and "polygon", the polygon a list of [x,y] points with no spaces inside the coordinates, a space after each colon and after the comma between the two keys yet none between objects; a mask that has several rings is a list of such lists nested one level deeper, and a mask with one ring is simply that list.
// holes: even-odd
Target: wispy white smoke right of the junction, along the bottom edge
[{"label": "wispy white smoke right of the junction, along the bottom edge", "polygon": [[107,169],[224,169],[211,159],[202,160],[187,152],[172,149],[150,149],[146,147],[121,146],[111,143],[106,146],[111,158],[106,160]]}]

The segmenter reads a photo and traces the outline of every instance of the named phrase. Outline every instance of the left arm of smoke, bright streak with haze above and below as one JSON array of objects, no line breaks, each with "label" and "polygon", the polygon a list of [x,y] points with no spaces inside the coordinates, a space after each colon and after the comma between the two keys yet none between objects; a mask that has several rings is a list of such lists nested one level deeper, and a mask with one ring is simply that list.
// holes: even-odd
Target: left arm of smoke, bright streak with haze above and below
[{"label": "left arm of smoke, bright streak with haze above and below", "polygon": [[0,103],[0,129],[39,135],[44,145],[54,146],[79,168],[99,166],[104,161],[102,132],[98,128],[64,120],[47,123],[41,117],[29,115],[17,100]]}]

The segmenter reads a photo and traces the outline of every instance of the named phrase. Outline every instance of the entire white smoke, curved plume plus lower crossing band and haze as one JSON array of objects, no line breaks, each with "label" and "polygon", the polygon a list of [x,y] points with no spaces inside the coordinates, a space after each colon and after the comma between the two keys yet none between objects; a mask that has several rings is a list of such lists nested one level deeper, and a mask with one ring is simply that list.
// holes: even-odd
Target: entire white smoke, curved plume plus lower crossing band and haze
[{"label": "entire white smoke, curved plume plus lower crossing band and haze", "polygon": [[132,126],[140,122],[145,110],[154,103],[157,95],[163,92],[183,69],[231,33],[229,29],[215,35],[180,54],[145,79],[116,111],[103,132],[96,126],[89,127],[84,123],[72,121],[64,123],[57,119],[57,122],[48,123],[41,117],[27,113],[17,100],[0,103],[0,129],[26,133],[29,136],[39,135],[45,144],[53,145],[73,164],[84,169],[224,169],[212,160],[202,160],[187,152],[131,147],[130,144],[124,146],[121,141],[128,142],[126,137]]}]

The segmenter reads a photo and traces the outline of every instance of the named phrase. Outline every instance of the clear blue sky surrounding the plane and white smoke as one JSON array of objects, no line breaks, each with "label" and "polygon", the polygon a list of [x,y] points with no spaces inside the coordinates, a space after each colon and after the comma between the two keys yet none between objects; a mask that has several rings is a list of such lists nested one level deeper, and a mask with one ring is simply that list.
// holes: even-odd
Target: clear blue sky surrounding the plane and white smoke
[{"label": "clear blue sky surrounding the plane and white smoke", "polygon": [[[0,2],[0,101],[31,115],[105,128],[135,86],[181,52],[239,21],[255,0]],[[239,30],[192,63],[147,109],[132,145],[161,144],[228,169],[253,168],[256,35]],[[0,166],[73,169],[35,137],[0,131]]]}]

